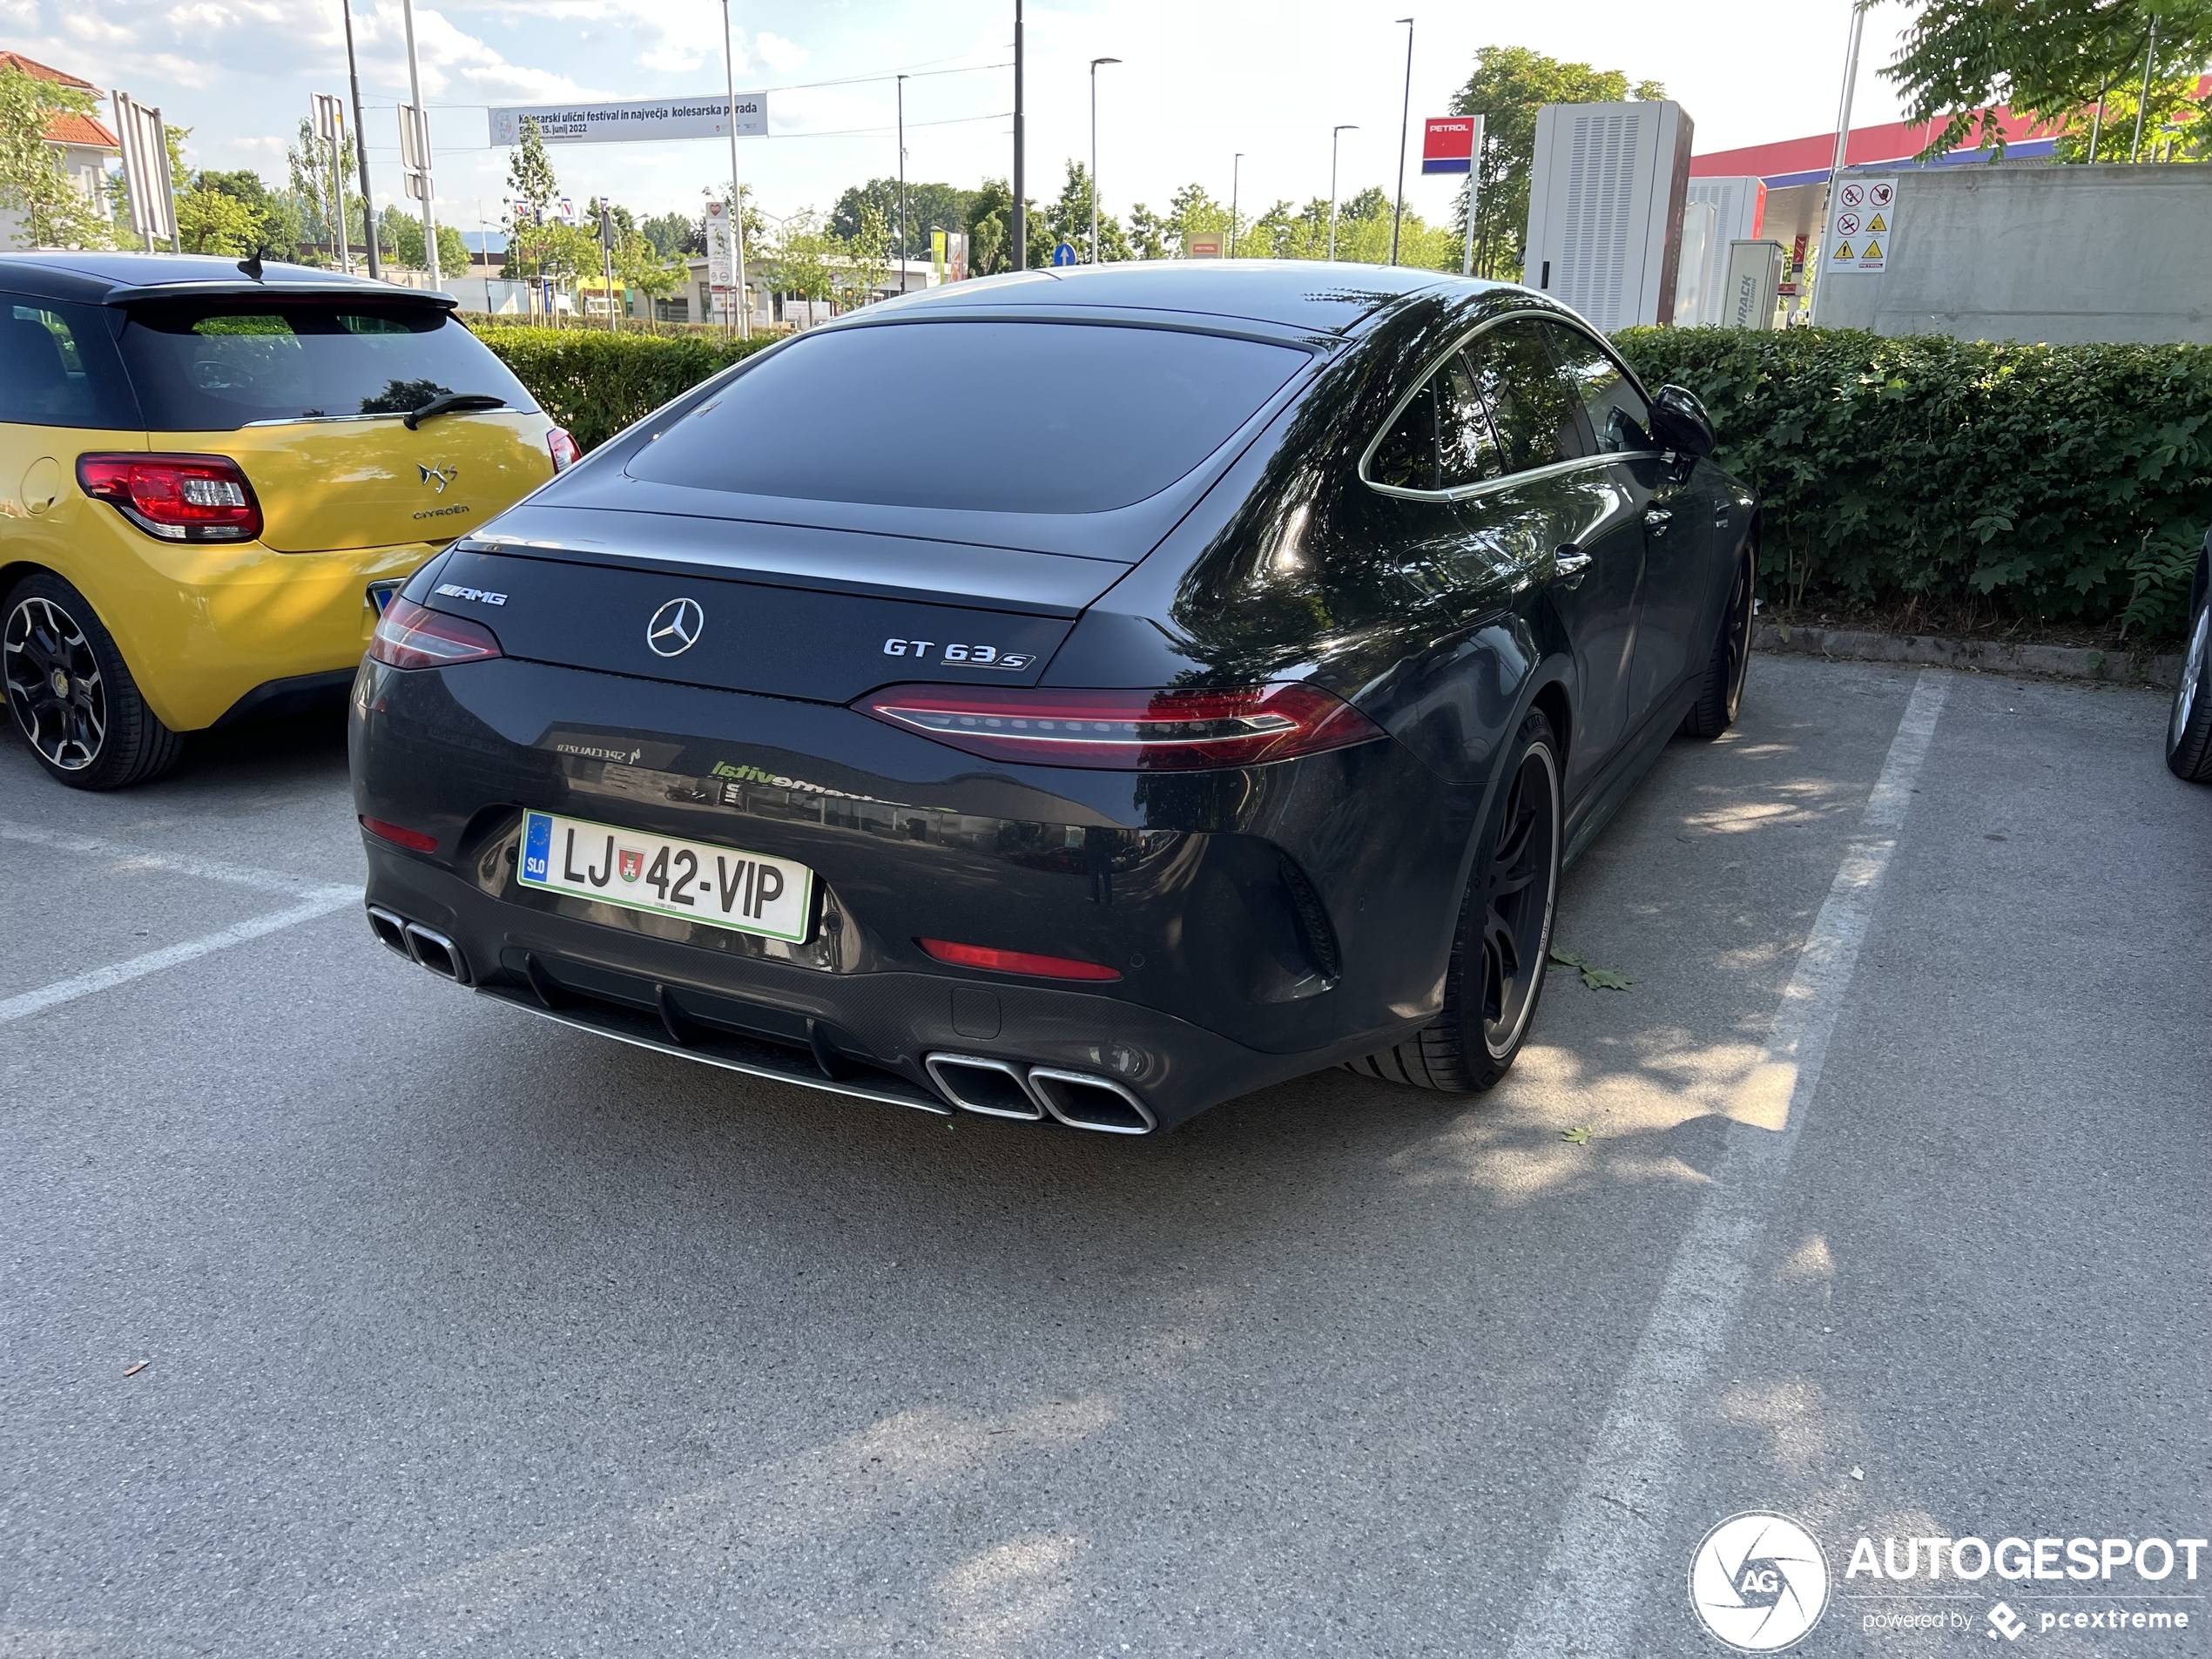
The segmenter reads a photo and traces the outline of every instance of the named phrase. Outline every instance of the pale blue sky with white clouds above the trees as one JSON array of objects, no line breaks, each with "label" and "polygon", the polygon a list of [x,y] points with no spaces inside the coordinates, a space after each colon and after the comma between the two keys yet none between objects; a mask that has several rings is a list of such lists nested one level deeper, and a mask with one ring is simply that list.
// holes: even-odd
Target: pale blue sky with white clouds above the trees
[{"label": "pale blue sky with white clouds above the trees", "polygon": [[[1690,113],[1697,150],[1832,131],[1849,0],[1573,0],[1433,7],[1431,0],[1062,0],[1026,7],[1029,192],[1057,195],[1064,161],[1091,153],[1093,58],[1106,212],[1155,210],[1199,181],[1245,210],[1338,188],[1396,188],[1411,7],[1407,206],[1451,210],[1460,181],[1420,175],[1420,117],[1449,108],[1475,51],[1531,46],[1659,80]],[[345,93],[341,0],[0,0],[0,46],[159,104],[192,128],[195,166],[283,179],[283,150],[312,93]],[[1909,20],[1900,0],[1867,15],[1854,126],[1898,119],[1876,66]],[[487,108],[546,100],[719,93],[719,0],[418,0],[416,44],[436,148],[438,217],[498,228],[509,150]],[[730,0],[737,86],[768,93],[770,135],[739,142],[763,210],[827,210],[838,192],[898,168],[896,82],[905,71],[907,177],[975,186],[1011,168],[1013,0]],[[407,97],[400,0],[354,0],[369,166],[378,201],[398,190]],[[1243,153],[1239,164],[1234,157]],[[555,146],[562,190],[608,195],[639,215],[697,215],[728,177],[728,142]]]}]

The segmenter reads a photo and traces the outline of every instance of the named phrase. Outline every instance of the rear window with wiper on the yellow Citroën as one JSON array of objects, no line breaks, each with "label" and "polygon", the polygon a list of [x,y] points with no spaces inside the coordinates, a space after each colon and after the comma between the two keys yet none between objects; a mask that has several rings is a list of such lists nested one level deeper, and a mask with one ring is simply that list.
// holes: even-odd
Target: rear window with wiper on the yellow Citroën
[{"label": "rear window with wiper on the yellow Citro\u00ebn", "polygon": [[538,407],[482,341],[431,305],[133,305],[122,349],[153,431],[407,414],[447,392],[482,392],[511,409]]}]

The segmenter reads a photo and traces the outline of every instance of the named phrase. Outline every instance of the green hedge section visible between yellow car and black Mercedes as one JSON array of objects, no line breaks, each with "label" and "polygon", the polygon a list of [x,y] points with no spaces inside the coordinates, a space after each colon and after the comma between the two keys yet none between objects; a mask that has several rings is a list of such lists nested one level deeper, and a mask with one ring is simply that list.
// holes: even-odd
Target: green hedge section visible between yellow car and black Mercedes
[{"label": "green hedge section visible between yellow car and black Mercedes", "polygon": [[770,345],[770,338],[666,338],[586,327],[476,327],[538,405],[584,447],[595,449],[633,420],[703,378]]}]

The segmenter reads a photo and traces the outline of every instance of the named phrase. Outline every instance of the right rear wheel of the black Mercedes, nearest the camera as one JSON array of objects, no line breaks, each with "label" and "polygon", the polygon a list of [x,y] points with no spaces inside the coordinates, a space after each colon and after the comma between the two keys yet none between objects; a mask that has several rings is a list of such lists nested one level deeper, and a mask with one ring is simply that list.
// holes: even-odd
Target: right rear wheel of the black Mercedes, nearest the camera
[{"label": "right rear wheel of the black Mercedes, nearest the camera", "polygon": [[1453,1095],[1493,1086],[1520,1055],[1544,995],[1566,807],[1559,741],[1531,712],[1509,750],[1506,783],[1475,849],[1444,973],[1444,1006],[1405,1042],[1345,1068]]}]

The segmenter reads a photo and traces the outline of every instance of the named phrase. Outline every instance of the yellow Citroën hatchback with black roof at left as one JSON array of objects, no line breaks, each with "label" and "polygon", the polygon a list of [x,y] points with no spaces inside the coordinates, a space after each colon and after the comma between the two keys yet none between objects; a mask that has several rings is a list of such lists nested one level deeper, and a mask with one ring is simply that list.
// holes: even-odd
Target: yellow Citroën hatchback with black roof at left
[{"label": "yellow Citro\u00ebn hatchback with black roof at left", "polygon": [[575,460],[453,301],[305,265],[0,254],[0,664],[80,790],[343,703],[383,604]]}]

